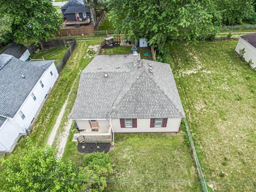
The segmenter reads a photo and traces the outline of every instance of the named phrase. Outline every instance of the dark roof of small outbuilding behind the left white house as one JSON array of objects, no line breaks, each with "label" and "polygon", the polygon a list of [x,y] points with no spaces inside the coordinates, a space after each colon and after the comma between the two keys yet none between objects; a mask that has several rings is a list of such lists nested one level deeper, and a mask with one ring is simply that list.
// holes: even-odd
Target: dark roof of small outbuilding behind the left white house
[{"label": "dark roof of small outbuilding behind the left white house", "polygon": [[13,57],[19,59],[26,50],[27,47],[22,44],[10,43],[6,46],[2,53],[12,55]]}]

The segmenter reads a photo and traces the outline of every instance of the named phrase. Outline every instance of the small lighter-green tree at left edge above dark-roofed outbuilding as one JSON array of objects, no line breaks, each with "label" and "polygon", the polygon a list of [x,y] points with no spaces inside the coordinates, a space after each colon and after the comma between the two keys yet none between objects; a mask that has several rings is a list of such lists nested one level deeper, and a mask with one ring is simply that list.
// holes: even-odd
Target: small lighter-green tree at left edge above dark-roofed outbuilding
[{"label": "small lighter-green tree at left edge above dark-roofed outbuilding", "polygon": [[12,33],[12,19],[10,15],[0,14],[0,44],[6,44]]}]

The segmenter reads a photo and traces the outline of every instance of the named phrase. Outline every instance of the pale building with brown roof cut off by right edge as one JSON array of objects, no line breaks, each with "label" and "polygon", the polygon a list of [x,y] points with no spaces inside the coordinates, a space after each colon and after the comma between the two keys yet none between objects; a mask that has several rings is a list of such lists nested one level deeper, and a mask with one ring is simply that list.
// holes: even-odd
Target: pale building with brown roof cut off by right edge
[{"label": "pale building with brown roof cut off by right edge", "polygon": [[252,62],[251,67],[256,67],[256,33],[243,35],[240,37],[237,45],[236,52],[238,54],[244,49],[244,59],[246,62]]}]

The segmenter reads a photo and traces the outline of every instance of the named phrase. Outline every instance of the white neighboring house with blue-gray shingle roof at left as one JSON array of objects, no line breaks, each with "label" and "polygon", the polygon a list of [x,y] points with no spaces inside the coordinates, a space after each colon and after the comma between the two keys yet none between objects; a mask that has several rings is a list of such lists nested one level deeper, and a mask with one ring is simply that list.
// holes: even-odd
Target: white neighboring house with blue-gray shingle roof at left
[{"label": "white neighboring house with blue-gray shingle roof at left", "polygon": [[11,152],[26,135],[58,76],[53,60],[12,57],[0,67],[0,152]]}]

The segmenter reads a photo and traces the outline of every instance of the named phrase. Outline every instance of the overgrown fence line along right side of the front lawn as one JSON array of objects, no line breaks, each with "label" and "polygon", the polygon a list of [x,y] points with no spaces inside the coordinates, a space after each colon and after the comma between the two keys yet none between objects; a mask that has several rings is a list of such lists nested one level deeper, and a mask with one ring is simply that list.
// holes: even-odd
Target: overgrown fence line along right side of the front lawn
[{"label": "overgrown fence line along right side of the front lawn", "polygon": [[200,166],[200,163],[198,161],[197,154],[196,154],[196,149],[195,149],[195,146],[194,146],[192,135],[191,135],[190,130],[189,130],[187,119],[182,119],[182,121],[183,121],[182,123],[185,124],[185,126],[186,126],[187,135],[185,135],[185,137],[186,137],[186,140],[187,140],[187,145],[190,146],[190,149],[192,150],[194,160],[196,162],[196,167],[197,167],[197,172],[199,174],[200,183],[202,185],[203,191],[208,192],[206,182],[204,180],[203,171],[201,169],[201,166]]}]

